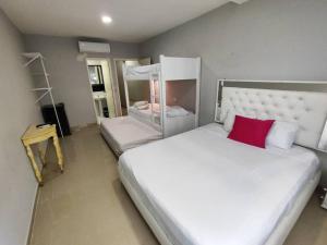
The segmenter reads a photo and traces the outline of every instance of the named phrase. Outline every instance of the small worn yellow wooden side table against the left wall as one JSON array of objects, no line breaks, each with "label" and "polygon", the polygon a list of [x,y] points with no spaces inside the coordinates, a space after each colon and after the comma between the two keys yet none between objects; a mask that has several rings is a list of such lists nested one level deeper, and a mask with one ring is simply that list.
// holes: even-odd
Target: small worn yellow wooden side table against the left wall
[{"label": "small worn yellow wooden side table against the left wall", "polygon": [[[45,125],[41,127],[37,127],[36,125],[31,125],[31,126],[28,126],[28,128],[26,130],[24,135],[22,136],[22,142],[26,148],[26,152],[31,160],[31,164],[33,167],[35,177],[40,185],[44,184],[43,175],[36,164],[31,145],[48,140],[49,138],[53,139],[53,145],[55,145],[56,154],[57,154],[57,158],[58,158],[58,166],[59,166],[61,172],[63,172],[63,158],[62,158],[61,148],[59,145],[59,139],[57,136],[57,131],[56,131],[55,124],[53,125]],[[45,166],[46,164],[46,161],[45,161],[46,160],[46,151],[43,152],[41,148],[38,146],[38,154],[39,154],[43,164]]]}]

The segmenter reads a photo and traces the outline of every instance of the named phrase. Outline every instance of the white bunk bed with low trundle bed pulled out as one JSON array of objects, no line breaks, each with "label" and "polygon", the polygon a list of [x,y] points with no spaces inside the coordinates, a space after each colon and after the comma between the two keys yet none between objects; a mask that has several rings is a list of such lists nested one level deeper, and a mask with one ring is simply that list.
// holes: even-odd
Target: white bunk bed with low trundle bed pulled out
[{"label": "white bunk bed with low trundle bed pulled out", "polygon": [[[128,115],[100,123],[100,132],[113,151],[119,156],[130,148],[197,127],[199,76],[201,58],[160,56],[157,64],[124,66]],[[144,101],[130,98],[129,88],[136,83],[148,86]]]}]

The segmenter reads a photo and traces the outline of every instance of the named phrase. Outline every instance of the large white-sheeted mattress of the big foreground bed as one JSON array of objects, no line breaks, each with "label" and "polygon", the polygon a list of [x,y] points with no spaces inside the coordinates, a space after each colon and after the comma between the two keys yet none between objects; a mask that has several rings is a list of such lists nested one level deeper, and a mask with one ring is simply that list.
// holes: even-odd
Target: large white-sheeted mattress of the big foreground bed
[{"label": "large white-sheeted mattress of the big foreground bed", "polygon": [[311,150],[261,149],[209,124],[123,154],[120,173],[174,245],[263,245],[320,166]]}]

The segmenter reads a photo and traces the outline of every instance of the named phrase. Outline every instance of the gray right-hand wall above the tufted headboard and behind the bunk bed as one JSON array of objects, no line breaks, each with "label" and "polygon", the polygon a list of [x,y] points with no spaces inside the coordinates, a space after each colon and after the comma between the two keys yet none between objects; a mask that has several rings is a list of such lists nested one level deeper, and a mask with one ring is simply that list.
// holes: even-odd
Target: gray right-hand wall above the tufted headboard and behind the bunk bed
[{"label": "gray right-hand wall above the tufted headboard and behind the bunk bed", "polygon": [[201,124],[217,78],[327,79],[327,1],[228,3],[141,45],[141,54],[202,57]]}]

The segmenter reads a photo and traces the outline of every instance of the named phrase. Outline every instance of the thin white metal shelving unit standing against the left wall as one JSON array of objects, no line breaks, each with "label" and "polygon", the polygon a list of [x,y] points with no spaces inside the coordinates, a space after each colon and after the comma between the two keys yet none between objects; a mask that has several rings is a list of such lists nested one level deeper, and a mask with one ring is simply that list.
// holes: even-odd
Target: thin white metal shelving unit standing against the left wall
[{"label": "thin white metal shelving unit standing against the left wall", "polygon": [[43,98],[45,98],[46,96],[50,97],[53,110],[55,110],[55,114],[56,114],[56,119],[58,122],[58,127],[59,131],[61,133],[61,137],[63,137],[63,133],[62,133],[62,127],[59,121],[59,117],[58,117],[58,112],[57,112],[57,108],[56,108],[56,103],[55,103],[55,99],[53,99],[53,95],[52,95],[52,87],[50,86],[50,82],[49,82],[49,73],[46,70],[46,65],[45,65],[45,58],[43,57],[43,54],[40,52],[24,52],[22,53],[22,56],[24,58],[26,58],[27,62],[24,63],[24,66],[27,68],[29,65],[32,65],[34,62],[39,62],[40,66],[41,66],[41,72],[37,72],[37,73],[32,73],[32,75],[35,76],[44,76],[45,78],[45,87],[36,87],[36,88],[32,88],[31,91],[44,91],[36,100],[35,103],[38,103]]}]

